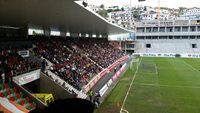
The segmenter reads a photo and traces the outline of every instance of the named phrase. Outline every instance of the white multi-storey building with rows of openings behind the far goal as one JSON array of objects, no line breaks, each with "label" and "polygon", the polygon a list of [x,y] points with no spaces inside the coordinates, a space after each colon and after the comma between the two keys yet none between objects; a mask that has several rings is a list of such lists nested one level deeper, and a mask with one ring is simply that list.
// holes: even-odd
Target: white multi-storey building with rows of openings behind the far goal
[{"label": "white multi-storey building with rows of openings behind the far goal", "polygon": [[197,54],[200,51],[200,24],[197,20],[137,22],[136,53]]}]

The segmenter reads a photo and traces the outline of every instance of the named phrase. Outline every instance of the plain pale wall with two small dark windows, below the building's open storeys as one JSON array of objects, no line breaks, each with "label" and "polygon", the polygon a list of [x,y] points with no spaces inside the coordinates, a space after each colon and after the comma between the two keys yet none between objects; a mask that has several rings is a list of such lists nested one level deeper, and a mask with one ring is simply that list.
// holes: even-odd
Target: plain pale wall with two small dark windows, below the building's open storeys
[{"label": "plain pale wall with two small dark windows, below the building's open storeys", "polygon": [[[136,53],[199,53],[200,51],[198,39],[146,39],[136,42]],[[151,44],[151,48],[147,48],[146,44]],[[192,48],[192,44],[196,44],[197,48]]]}]

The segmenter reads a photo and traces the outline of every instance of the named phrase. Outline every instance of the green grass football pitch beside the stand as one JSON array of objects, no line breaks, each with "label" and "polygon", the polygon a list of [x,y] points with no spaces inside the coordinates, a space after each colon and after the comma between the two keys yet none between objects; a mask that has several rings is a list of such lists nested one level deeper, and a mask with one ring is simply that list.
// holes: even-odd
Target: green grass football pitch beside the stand
[{"label": "green grass football pitch beside the stand", "polygon": [[200,113],[200,59],[143,57],[136,67],[125,72],[95,113],[119,113],[134,76],[123,106],[129,113]]}]

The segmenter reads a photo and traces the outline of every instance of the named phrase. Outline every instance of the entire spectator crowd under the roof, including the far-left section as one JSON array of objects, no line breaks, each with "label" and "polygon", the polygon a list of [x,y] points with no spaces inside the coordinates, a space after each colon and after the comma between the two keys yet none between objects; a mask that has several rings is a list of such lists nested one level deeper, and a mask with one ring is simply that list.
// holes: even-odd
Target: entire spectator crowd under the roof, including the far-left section
[{"label": "entire spectator crowd under the roof, including the far-left section", "polygon": [[[114,49],[107,39],[99,38],[35,38],[32,40],[35,56],[42,56],[53,65],[50,71],[78,90],[95,75],[113,64],[125,54]],[[1,81],[34,69],[45,70],[45,60],[37,63],[21,57],[17,50],[0,50]]]}]

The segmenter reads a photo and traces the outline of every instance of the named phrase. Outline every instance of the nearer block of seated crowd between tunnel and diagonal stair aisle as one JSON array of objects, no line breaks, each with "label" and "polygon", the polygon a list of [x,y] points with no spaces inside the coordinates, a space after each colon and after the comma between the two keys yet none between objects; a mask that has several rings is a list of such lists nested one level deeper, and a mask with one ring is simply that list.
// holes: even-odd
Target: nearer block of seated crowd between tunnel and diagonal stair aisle
[{"label": "nearer block of seated crowd between tunnel and diagonal stair aisle", "polygon": [[81,54],[70,39],[35,40],[34,43],[35,53],[54,64],[50,70],[79,90],[102,70]]}]

